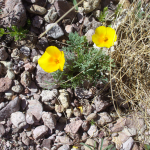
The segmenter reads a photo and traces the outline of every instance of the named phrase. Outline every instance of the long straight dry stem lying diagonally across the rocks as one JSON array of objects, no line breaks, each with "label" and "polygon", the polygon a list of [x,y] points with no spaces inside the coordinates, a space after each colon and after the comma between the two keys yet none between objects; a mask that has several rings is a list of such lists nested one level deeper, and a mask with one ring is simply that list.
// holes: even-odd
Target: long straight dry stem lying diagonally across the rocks
[{"label": "long straight dry stem lying diagonally across the rocks", "polygon": [[68,15],[76,6],[83,3],[84,0],[76,4],[74,7],[72,7],[70,10],[68,10],[62,17],[60,17],[50,28],[48,28],[46,31],[44,31],[42,34],[40,34],[39,38],[41,38],[43,35],[45,35],[49,30],[51,30],[60,20],[62,20],[66,15]]}]

